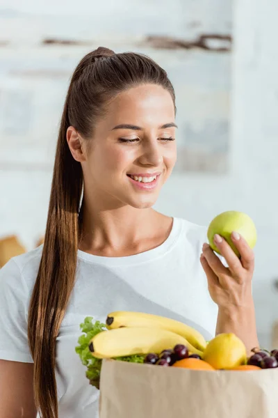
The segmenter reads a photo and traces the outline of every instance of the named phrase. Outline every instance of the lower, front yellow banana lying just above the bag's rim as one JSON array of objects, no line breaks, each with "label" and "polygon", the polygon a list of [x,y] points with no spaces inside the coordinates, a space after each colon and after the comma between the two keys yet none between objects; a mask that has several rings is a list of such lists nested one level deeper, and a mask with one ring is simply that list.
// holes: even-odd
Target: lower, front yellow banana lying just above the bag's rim
[{"label": "lower, front yellow banana lying just above the bag's rim", "polygon": [[123,327],[99,332],[92,337],[89,348],[94,357],[104,359],[134,354],[160,354],[162,350],[173,349],[176,344],[183,344],[192,353],[202,355],[183,336],[151,327]]}]

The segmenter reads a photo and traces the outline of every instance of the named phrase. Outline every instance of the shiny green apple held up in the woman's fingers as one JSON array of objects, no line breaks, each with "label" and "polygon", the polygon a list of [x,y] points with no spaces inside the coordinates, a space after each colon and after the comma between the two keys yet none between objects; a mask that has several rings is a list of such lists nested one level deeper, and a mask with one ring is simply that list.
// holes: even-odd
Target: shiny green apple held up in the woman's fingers
[{"label": "shiny green apple held up in the woman's fingers", "polygon": [[213,242],[215,233],[218,233],[229,243],[231,248],[239,257],[240,254],[236,249],[234,242],[231,240],[231,233],[233,231],[240,233],[240,235],[242,235],[247,241],[248,245],[251,248],[254,248],[256,245],[256,226],[254,225],[252,219],[243,212],[228,210],[227,212],[220,213],[220,215],[215,217],[208,226],[208,242],[213,251],[220,254],[218,247],[216,247]]}]

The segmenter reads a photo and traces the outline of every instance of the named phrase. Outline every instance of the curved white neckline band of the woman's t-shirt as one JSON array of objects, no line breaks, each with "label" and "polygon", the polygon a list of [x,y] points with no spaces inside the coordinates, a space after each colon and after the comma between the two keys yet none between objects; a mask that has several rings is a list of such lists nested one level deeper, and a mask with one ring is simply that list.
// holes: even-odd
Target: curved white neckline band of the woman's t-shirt
[{"label": "curved white neckline band of the woman's t-shirt", "polygon": [[161,245],[158,245],[158,247],[153,249],[148,249],[142,253],[124,257],[95,256],[94,254],[90,254],[79,249],[77,251],[77,256],[81,260],[102,265],[131,265],[154,260],[154,258],[157,258],[169,251],[172,245],[174,245],[179,238],[181,233],[181,219],[176,217],[173,217],[172,219],[172,229],[170,234]]}]

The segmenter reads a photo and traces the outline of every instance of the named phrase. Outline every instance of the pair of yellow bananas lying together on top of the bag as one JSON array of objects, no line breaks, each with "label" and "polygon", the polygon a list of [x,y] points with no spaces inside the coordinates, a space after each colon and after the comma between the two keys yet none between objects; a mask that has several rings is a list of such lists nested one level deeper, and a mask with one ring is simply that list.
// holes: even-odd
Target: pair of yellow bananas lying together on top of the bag
[{"label": "pair of yellow bananas lying together on top of the bag", "polygon": [[202,353],[206,340],[193,327],[177,320],[132,311],[115,311],[106,318],[108,331],[90,341],[90,351],[99,359],[161,353],[183,344],[190,353]]}]

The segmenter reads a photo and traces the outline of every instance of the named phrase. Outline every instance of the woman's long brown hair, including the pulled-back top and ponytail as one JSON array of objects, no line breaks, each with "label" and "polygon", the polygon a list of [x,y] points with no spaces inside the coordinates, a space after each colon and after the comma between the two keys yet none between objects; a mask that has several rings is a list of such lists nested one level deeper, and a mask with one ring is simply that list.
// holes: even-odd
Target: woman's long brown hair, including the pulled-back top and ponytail
[{"label": "woman's long brown hair, including the pulled-back top and ponytail", "polygon": [[158,84],[170,92],[175,102],[174,89],[165,70],[152,59],[132,52],[115,54],[111,49],[99,47],[77,65],[67,92],[42,258],[28,315],[35,404],[43,418],[58,417],[56,338],[74,288],[81,235],[79,208],[83,173],[67,145],[67,128],[73,126],[82,137],[90,139],[95,122],[105,114],[108,100],[139,84]]}]

